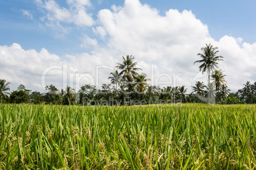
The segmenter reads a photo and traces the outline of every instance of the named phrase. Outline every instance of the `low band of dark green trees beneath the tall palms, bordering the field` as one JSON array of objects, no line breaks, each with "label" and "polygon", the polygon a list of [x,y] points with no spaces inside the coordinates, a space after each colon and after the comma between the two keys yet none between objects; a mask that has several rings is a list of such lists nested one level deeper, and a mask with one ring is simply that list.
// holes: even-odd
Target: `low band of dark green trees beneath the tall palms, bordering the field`
[{"label": "low band of dark green trees beneath the tall palms, bordering the field", "polygon": [[[20,86],[23,86],[22,84]],[[145,93],[125,93],[122,89],[111,88],[110,84],[103,84],[102,89],[96,89],[95,86],[86,84],[75,93],[70,91],[70,87],[66,91],[57,89],[50,85],[47,93],[38,91],[30,91],[25,88],[19,88],[12,91],[10,97],[0,96],[1,103],[32,103],[32,104],[53,104],[53,105],[143,105],[156,103],[207,103],[198,96],[208,95],[208,89],[203,82],[197,82],[192,87],[192,93],[187,94],[185,86],[171,87],[167,86],[159,88],[156,86],[146,86]],[[203,88],[202,88],[203,86]],[[24,86],[23,86],[24,87]],[[221,104],[239,104],[239,103],[256,103],[256,82],[251,84],[246,82],[244,88],[239,89],[236,93],[226,91],[225,85],[220,91],[211,91],[212,98],[216,99],[216,103]]]}]

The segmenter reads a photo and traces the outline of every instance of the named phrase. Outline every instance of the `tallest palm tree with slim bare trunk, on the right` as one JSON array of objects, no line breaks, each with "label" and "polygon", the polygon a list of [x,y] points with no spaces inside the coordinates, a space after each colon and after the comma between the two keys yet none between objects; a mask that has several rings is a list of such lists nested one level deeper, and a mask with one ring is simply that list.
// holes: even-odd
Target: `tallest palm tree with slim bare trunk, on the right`
[{"label": "tallest palm tree with slim bare trunk, on the right", "polygon": [[[199,55],[201,57],[201,60],[197,60],[195,63],[202,63],[200,66],[199,66],[199,70],[204,73],[207,71],[208,73],[208,84],[210,86],[210,71],[215,69],[215,68],[218,68],[218,61],[224,61],[222,60],[222,58],[224,58],[223,56],[217,56],[217,53],[218,53],[218,48],[215,47],[213,48],[213,46],[211,44],[206,44],[206,47],[203,47],[201,48],[201,50],[203,51],[203,54],[202,53],[198,53],[197,55]],[[210,87],[209,87],[210,89]],[[210,95],[211,91],[209,91],[209,96]],[[211,98],[210,98],[211,100]]]}]

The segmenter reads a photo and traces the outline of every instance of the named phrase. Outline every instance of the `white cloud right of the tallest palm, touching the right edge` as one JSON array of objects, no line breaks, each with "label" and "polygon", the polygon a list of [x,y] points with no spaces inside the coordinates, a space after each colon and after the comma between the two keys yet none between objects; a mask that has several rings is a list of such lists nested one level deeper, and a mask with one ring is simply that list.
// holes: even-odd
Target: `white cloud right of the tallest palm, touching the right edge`
[{"label": "white cloud right of the tallest palm, touching the right edge", "polygon": [[238,42],[231,36],[224,36],[215,42],[225,62],[220,68],[225,70],[227,85],[233,90],[243,88],[246,81],[256,81],[256,42]]}]

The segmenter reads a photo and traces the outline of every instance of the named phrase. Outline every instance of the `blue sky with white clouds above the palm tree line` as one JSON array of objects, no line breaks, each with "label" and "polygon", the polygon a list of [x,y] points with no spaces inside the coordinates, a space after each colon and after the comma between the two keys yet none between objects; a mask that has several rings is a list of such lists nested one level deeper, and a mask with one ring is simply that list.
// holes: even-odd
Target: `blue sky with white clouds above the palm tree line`
[{"label": "blue sky with white clouds above the palm tree line", "polygon": [[197,53],[218,47],[232,91],[256,81],[256,1],[0,1],[0,79],[99,88],[132,55],[157,86],[206,81]]}]

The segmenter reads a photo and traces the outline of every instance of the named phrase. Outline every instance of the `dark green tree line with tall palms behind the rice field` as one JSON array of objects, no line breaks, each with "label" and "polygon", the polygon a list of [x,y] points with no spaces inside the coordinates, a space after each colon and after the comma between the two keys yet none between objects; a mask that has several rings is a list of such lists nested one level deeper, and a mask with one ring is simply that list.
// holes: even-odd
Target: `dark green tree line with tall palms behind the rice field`
[{"label": "dark green tree line with tall palms behind the rice field", "polygon": [[[138,73],[142,71],[137,67],[135,57],[122,56],[122,62],[117,63],[117,70],[110,73],[110,84],[103,84],[101,89],[85,84],[79,91],[67,86],[65,89],[57,89],[53,84],[46,86],[46,93],[31,91],[20,84],[17,90],[10,91],[6,80],[0,80],[1,103],[33,103],[53,105],[144,105],[159,103],[215,103],[238,104],[256,103],[256,82],[247,81],[244,88],[236,93],[230,93],[225,81],[224,71],[218,70],[218,62],[224,61],[223,56],[218,56],[218,48],[206,44],[201,48],[203,53],[197,55],[201,60],[199,70],[207,72],[208,86],[204,82],[197,81],[191,86],[192,93],[187,94],[185,86],[167,86],[160,88],[148,84],[147,75]],[[112,85],[112,86],[111,86]]]}]

